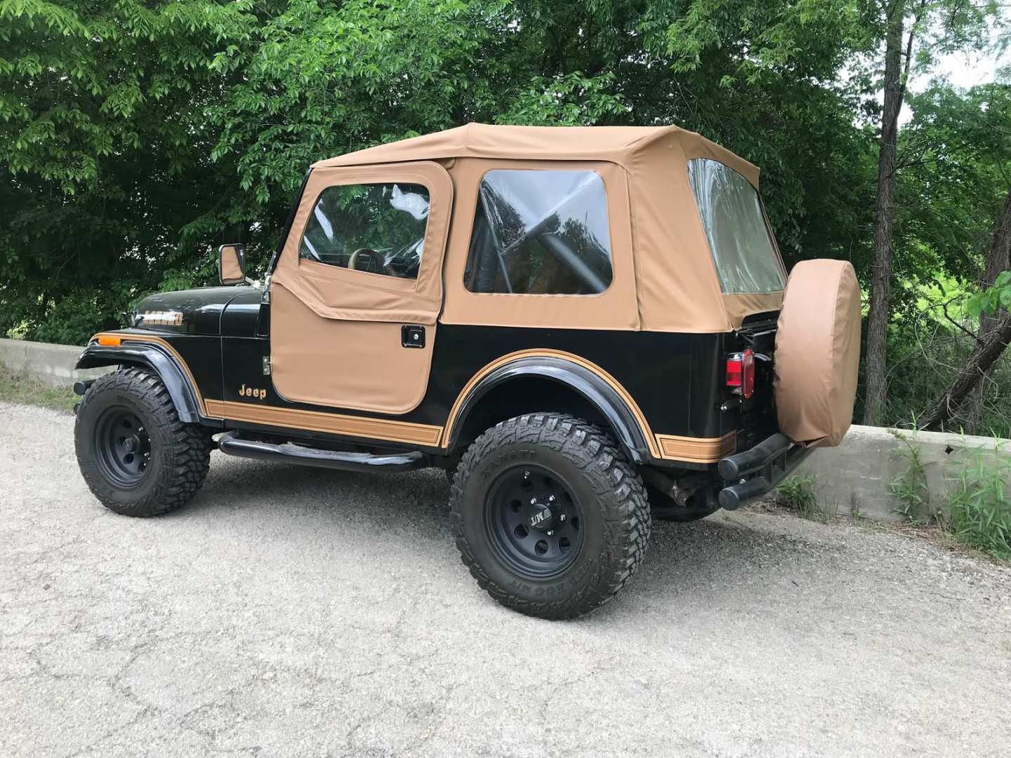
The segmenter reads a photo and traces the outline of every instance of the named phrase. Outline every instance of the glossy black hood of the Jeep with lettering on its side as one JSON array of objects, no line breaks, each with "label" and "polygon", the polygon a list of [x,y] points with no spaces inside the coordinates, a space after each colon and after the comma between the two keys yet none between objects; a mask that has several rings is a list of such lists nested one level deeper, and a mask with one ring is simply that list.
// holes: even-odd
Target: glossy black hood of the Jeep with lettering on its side
[{"label": "glossy black hood of the Jeep with lettering on its side", "polygon": [[186,335],[219,335],[224,306],[256,287],[200,287],[159,292],[139,302],[129,314],[129,325],[153,331]]}]

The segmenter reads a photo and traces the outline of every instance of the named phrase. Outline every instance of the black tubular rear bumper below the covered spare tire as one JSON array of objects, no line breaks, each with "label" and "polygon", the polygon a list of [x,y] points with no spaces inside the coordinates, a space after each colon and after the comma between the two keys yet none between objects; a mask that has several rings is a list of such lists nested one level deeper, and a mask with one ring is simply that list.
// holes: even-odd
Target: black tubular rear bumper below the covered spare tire
[{"label": "black tubular rear bumper below the covered spare tire", "polygon": [[720,490],[721,507],[736,510],[771,492],[812,451],[776,433],[750,450],[721,459],[717,470],[727,485]]}]

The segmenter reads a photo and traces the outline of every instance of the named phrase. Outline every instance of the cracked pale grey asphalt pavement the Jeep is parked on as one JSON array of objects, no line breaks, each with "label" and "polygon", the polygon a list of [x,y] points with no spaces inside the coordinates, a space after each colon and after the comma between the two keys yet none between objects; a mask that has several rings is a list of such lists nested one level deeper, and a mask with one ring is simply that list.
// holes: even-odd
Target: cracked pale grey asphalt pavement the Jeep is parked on
[{"label": "cracked pale grey asphalt pavement the Jeep is parked on", "polygon": [[72,429],[0,404],[2,756],[1011,753],[1011,569],[717,515],[543,622],[464,570],[441,472],[214,453],[189,506],[131,519]]}]

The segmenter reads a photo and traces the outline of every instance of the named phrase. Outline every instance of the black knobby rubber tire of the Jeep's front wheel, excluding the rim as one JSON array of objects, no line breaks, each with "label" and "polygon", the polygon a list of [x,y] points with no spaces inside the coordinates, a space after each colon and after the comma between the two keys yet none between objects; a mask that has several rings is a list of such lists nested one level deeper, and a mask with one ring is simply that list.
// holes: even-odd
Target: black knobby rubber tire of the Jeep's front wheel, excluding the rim
[{"label": "black knobby rubber tire of the Jeep's front wheel, excluding the rim", "polygon": [[[123,487],[96,460],[96,430],[102,414],[126,408],[144,424],[151,457],[144,477]],[[167,513],[186,504],[210,466],[211,431],[183,423],[165,385],[155,374],[128,368],[95,381],[77,409],[74,443],[78,465],[95,497],[109,510],[132,516]]]}]

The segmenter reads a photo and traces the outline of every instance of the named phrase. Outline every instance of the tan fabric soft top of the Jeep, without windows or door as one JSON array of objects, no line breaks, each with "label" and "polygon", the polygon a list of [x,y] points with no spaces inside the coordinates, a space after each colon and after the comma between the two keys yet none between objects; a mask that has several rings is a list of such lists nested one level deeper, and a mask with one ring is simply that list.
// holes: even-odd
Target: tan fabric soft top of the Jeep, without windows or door
[{"label": "tan fabric soft top of the Jeep, without windows or door", "polygon": [[[346,172],[357,175],[368,171],[368,167],[378,170],[383,165],[402,163],[421,167],[424,162],[437,162],[445,168],[458,202],[452,209],[446,205],[440,209],[434,204],[432,211],[433,216],[446,214],[453,218],[446,255],[445,302],[440,317],[444,322],[727,331],[738,328],[741,320],[751,313],[777,309],[783,292],[724,294],[721,291],[688,183],[687,162],[695,158],[719,161],[758,187],[756,166],[677,126],[469,123],[319,161],[312,166],[316,176],[312,189],[317,191],[316,183],[321,186],[338,181],[337,177]],[[620,167],[615,176],[605,176],[615,255],[612,286],[598,296],[466,291],[460,277],[469,245],[473,198],[481,177],[491,169],[531,168],[538,162],[554,162],[559,168],[563,163],[571,167],[577,162]],[[600,173],[603,169],[596,170]],[[303,215],[307,213],[308,208],[303,209]],[[297,252],[289,257],[297,261]],[[423,279],[425,276],[420,276],[419,293],[438,296],[441,282],[427,284]],[[527,302],[530,297],[538,298],[536,307]],[[429,306],[426,308],[431,310]],[[426,318],[434,320],[435,312],[429,312]]]}]

